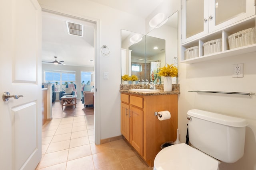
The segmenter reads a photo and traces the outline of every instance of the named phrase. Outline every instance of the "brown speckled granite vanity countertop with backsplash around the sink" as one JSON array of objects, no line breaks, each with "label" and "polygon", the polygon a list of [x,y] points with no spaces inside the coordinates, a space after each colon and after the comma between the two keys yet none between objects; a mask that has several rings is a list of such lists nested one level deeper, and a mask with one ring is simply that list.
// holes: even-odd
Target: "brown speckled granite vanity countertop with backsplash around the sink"
[{"label": "brown speckled granite vanity countertop with backsplash around the sink", "polygon": [[130,91],[130,89],[142,89],[142,85],[141,84],[121,84],[119,91],[121,93],[137,94],[137,95],[142,95],[142,96],[180,94],[180,84],[172,84],[171,92],[164,91],[163,84],[156,85],[156,89],[159,89],[160,92],[134,92],[134,91]]}]

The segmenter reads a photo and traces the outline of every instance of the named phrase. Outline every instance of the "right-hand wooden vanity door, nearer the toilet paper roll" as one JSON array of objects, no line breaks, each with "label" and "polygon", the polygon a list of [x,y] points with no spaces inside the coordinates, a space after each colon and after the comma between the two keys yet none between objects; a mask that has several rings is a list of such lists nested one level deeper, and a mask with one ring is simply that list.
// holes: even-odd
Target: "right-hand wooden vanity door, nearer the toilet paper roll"
[{"label": "right-hand wooden vanity door, nearer the toilet paper roll", "polygon": [[130,143],[143,156],[143,111],[130,106]]}]

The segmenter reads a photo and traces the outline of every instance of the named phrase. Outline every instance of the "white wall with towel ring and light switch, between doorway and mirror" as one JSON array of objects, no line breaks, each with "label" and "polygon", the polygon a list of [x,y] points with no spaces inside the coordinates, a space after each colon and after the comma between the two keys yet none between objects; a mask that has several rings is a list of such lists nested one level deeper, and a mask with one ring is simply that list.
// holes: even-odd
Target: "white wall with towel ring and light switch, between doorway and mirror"
[{"label": "white wall with towel ring and light switch, between doorway and mirror", "polygon": [[[145,20],[138,16],[115,10],[89,0],[38,0],[43,9],[80,18],[100,20],[100,47],[107,45],[110,55],[96,61],[96,108],[100,118],[100,139],[121,135],[120,84],[121,84],[121,29],[145,34]],[[100,49],[96,50],[100,51]],[[98,65],[97,65],[98,64]],[[98,66],[98,68],[97,68]],[[97,71],[98,69],[98,71]],[[103,79],[103,72],[109,79]],[[99,82],[97,82],[99,78]],[[97,84],[98,83],[98,84]],[[97,116],[96,116],[97,117]],[[97,139],[96,139],[97,140]]]}]

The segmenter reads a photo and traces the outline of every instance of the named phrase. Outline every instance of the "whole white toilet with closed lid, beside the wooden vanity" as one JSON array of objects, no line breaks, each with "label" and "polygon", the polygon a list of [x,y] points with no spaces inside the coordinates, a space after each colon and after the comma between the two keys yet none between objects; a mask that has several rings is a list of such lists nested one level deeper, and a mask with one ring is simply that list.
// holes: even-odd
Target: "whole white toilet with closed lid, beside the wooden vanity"
[{"label": "whole white toilet with closed lid, beside the wooden vanity", "polygon": [[244,155],[245,119],[199,109],[188,113],[190,147],[185,143],[162,149],[154,170],[218,170],[221,162],[234,163]]}]

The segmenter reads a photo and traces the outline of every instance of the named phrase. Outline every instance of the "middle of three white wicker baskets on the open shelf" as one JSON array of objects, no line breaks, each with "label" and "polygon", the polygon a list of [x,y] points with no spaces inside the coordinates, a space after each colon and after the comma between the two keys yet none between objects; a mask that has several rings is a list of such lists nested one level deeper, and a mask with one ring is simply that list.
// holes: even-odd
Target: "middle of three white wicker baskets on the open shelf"
[{"label": "middle of three white wicker baskets on the open shelf", "polygon": [[222,39],[214,39],[204,43],[204,55],[222,51]]}]

